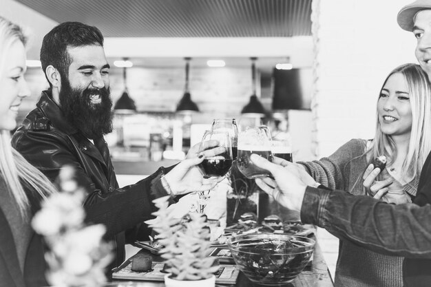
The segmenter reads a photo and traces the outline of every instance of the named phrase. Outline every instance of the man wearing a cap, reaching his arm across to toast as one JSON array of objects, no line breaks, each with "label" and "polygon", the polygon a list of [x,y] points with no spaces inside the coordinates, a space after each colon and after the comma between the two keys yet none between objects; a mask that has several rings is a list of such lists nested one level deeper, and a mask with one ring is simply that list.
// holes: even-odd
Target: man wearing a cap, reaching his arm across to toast
[{"label": "man wearing a cap, reaching his arm across to toast", "polygon": [[[431,79],[431,0],[405,6],[397,21],[416,36],[417,60]],[[431,286],[431,153],[423,165],[415,204],[399,205],[326,189],[286,160],[269,162],[256,155],[251,160],[274,177],[258,178],[257,185],[286,208],[299,211],[302,222],[372,251],[406,257],[404,285]]]}]

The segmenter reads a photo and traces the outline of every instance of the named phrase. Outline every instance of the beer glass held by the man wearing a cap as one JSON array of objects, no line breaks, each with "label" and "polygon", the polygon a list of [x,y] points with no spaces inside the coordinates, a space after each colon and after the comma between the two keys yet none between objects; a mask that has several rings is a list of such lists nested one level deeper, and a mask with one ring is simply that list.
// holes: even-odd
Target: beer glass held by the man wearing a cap
[{"label": "beer glass held by the man wearing a cap", "polygon": [[238,170],[249,179],[270,176],[271,173],[266,169],[256,167],[250,160],[252,153],[262,156],[267,160],[273,160],[271,152],[271,134],[268,127],[246,127],[238,135]]}]

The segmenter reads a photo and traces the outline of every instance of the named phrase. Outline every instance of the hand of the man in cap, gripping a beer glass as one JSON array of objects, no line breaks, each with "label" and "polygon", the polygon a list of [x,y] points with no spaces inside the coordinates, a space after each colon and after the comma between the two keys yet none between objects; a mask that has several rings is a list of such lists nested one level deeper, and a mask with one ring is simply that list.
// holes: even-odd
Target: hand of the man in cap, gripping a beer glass
[{"label": "hand of the man in cap, gripping a beer glass", "polygon": [[257,178],[256,184],[282,206],[293,211],[300,211],[307,185],[301,179],[300,168],[277,157],[274,157],[273,162],[255,154],[252,154],[250,158],[257,167],[266,169],[274,177],[274,179]]}]

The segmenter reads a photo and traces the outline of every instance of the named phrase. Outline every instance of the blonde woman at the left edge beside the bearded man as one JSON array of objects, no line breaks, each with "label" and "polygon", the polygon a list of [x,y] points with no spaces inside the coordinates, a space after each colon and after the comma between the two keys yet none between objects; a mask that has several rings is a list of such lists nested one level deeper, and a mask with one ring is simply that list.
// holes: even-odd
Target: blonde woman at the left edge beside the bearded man
[{"label": "blonde woman at the left edge beside the bearded man", "polygon": [[43,245],[30,220],[54,186],[10,145],[21,100],[30,95],[23,77],[26,38],[0,17],[0,285],[46,286]]}]

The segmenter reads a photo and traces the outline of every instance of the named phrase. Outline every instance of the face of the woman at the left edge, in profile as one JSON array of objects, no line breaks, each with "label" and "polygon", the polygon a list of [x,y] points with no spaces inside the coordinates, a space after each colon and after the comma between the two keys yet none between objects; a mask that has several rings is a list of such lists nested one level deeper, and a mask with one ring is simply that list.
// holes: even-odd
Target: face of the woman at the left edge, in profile
[{"label": "face of the woman at the left edge, in profile", "polygon": [[30,95],[24,79],[25,48],[21,41],[14,41],[7,51],[0,73],[0,129],[12,130],[17,126],[18,108],[21,100]]}]

